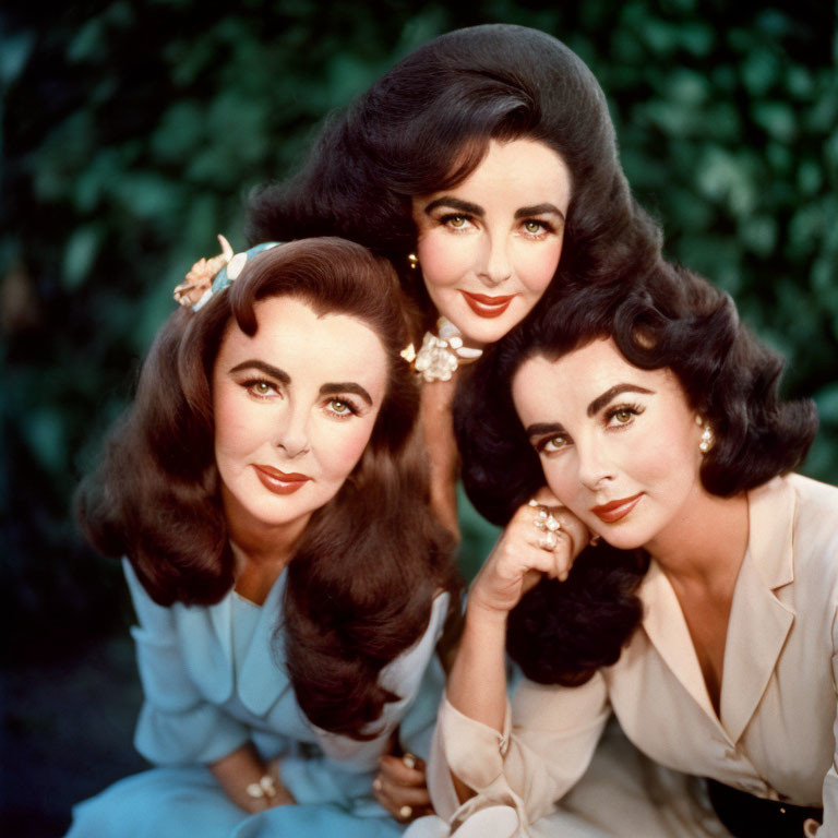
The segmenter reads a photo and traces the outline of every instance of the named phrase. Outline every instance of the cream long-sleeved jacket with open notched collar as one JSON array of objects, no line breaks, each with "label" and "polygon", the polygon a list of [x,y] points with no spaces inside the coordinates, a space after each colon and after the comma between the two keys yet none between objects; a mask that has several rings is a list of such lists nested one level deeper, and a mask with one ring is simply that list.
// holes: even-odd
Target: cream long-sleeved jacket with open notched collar
[{"label": "cream long-sleeved jacket with open notched collar", "polygon": [[[816,835],[838,836],[838,488],[777,478],[749,493],[749,520],[720,717],[672,586],[653,562],[639,589],[641,626],[587,684],[523,681],[503,734],[443,702],[429,767],[440,815],[456,824],[506,804],[527,834],[585,773],[613,710],[657,763],[762,798],[823,805]],[[463,806],[448,769],[478,792]]]}]

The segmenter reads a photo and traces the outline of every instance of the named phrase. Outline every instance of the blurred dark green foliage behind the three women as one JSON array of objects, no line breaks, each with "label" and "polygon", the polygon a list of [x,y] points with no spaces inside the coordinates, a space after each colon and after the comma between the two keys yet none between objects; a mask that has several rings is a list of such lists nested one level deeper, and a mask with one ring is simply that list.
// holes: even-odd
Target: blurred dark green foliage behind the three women
[{"label": "blurred dark green foliage behind the three women", "polygon": [[[838,85],[829,2],[192,0],[0,12],[0,614],[5,659],[121,621],[69,503],[171,289],[316,123],[439,33],[558,35],[608,95],[668,253],[733,294],[814,396],[838,482]],[[475,555],[468,561],[474,562]]]}]

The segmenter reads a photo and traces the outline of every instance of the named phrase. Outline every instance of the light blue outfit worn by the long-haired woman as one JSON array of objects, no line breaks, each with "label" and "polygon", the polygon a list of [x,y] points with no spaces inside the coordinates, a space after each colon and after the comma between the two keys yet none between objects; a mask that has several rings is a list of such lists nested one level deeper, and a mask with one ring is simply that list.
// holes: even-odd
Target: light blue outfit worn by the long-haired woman
[{"label": "light blue outfit worn by the long-haired woman", "polygon": [[[261,607],[234,590],[213,606],[161,607],[148,597],[128,561],[123,568],[137,615],[132,635],[144,690],[134,742],[152,763],[171,768],[128,778],[81,804],[69,836],[173,836],[178,829],[182,836],[183,828],[195,826],[199,807],[204,813],[220,807],[225,813],[224,817],[213,816],[210,827],[202,826],[202,838],[226,838],[232,835],[231,824],[237,825],[237,836],[261,835],[259,829],[242,829],[246,822],[273,819],[278,826],[292,817],[291,810],[304,812],[326,804],[331,811],[351,817],[386,817],[387,834],[391,829],[400,831],[375,802],[371,782],[379,756],[396,727],[405,749],[422,756],[429,752],[444,687],[433,653],[448,609],[447,592],[434,599],[424,634],[381,671],[381,684],[400,698],[386,704],[381,719],[371,726],[370,732],[376,735],[358,742],[315,727],[297,704],[285,669],[279,627],[285,574]],[[208,771],[203,766],[249,741],[265,759],[282,756],[282,781],[301,805],[280,806],[251,817],[232,804],[227,806],[223,789],[211,776],[211,781],[206,780]],[[184,793],[172,793],[178,786]],[[168,802],[163,802],[161,794]],[[210,794],[212,801],[206,797]],[[127,817],[127,812],[132,814]],[[315,822],[322,822],[323,829],[343,829],[323,835],[348,834],[346,824],[339,825],[330,816],[324,819],[324,814],[326,810],[319,811],[312,818],[309,812],[306,823],[312,828],[300,834],[321,835],[320,828],[313,828]],[[147,831],[127,823],[136,817],[148,822]],[[171,827],[170,831],[160,831],[160,822]],[[111,823],[120,823],[117,831],[108,831]],[[218,828],[213,828],[216,825]],[[367,822],[368,835],[374,834],[371,827]],[[208,834],[207,828],[212,829]],[[277,833],[284,834],[285,829]]]}]

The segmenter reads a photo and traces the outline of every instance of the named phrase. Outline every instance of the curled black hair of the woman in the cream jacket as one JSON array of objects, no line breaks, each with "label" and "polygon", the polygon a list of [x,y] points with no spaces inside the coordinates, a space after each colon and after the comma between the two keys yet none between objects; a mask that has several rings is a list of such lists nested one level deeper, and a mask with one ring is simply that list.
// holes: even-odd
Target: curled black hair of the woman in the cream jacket
[{"label": "curled black hair of the woman in the cream jacket", "polygon": [[[469,370],[454,426],[466,491],[490,520],[505,524],[544,483],[515,412],[515,373],[528,358],[558,360],[598,338],[613,339],[641,369],[675,374],[690,407],[713,428],[701,467],[711,494],[754,489],[805,457],[817,415],[811,400],[780,400],[782,359],[740,322],[727,294],[663,263],[632,286],[577,288],[541,307]],[[643,551],[601,544],[583,551],[565,584],[538,585],[510,623],[510,650],[525,673],[573,684],[613,663],[642,616],[635,590],[647,565]],[[579,628],[582,636],[564,641]]]}]

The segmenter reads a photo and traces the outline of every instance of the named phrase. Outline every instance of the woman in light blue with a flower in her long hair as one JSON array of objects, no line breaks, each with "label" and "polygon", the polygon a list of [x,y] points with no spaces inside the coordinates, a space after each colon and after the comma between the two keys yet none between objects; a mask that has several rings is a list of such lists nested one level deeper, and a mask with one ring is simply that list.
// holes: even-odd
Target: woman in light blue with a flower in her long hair
[{"label": "woman in light blue with a flower in her long hair", "polygon": [[176,297],[79,495],[91,542],[127,556],[158,767],[69,835],[399,835],[427,798],[387,812],[372,780],[430,738],[458,580],[395,274],[339,239],[225,242]]}]

